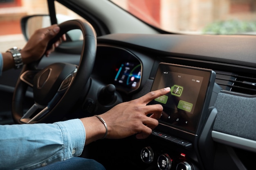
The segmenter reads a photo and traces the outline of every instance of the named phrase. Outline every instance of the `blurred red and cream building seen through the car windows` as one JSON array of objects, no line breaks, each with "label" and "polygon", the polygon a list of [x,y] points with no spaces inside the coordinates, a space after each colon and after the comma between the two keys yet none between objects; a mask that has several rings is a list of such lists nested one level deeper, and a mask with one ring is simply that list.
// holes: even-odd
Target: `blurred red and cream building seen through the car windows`
[{"label": "blurred red and cream building seen through the car windows", "polygon": [[[218,23],[211,24],[229,20],[256,23],[256,0],[112,1],[133,15],[166,31],[202,33],[207,26],[218,26]],[[65,7],[62,7],[62,14],[70,15],[65,10]],[[47,13],[47,0],[0,0],[0,43],[9,36],[14,41],[22,39],[21,17]],[[208,32],[213,32],[213,29]],[[0,50],[2,50],[1,44]]]}]

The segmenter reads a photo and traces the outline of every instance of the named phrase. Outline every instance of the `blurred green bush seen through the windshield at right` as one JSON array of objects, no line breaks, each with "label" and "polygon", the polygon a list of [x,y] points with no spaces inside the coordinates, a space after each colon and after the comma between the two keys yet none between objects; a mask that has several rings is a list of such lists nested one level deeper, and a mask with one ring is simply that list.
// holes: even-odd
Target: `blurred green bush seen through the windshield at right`
[{"label": "blurred green bush seen through the windshield at right", "polygon": [[256,32],[255,21],[228,20],[218,21],[209,24],[203,29],[204,34],[243,34],[248,32]]}]

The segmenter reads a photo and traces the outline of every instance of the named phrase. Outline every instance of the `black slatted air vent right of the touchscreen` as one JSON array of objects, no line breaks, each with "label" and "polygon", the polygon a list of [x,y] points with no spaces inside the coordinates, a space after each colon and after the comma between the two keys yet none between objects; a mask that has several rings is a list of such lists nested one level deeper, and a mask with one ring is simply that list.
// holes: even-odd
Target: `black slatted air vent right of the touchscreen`
[{"label": "black slatted air vent right of the touchscreen", "polygon": [[224,90],[244,94],[256,94],[256,75],[216,71],[216,81]]}]

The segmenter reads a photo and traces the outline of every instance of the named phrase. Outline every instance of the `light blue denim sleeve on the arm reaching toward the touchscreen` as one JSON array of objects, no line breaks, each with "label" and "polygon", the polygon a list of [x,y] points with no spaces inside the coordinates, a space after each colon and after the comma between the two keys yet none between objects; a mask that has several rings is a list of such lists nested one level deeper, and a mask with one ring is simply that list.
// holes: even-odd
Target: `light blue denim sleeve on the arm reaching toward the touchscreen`
[{"label": "light blue denim sleeve on the arm reaching toward the touchscreen", "polygon": [[84,144],[85,129],[79,119],[0,125],[1,169],[35,169],[80,156]]}]

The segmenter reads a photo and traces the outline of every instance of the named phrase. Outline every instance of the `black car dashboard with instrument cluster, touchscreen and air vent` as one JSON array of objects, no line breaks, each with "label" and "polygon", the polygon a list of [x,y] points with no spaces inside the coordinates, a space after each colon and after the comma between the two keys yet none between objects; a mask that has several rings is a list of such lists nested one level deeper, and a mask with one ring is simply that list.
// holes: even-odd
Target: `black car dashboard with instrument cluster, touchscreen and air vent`
[{"label": "black car dashboard with instrument cluster, touchscreen and air vent", "polygon": [[[252,57],[256,49],[252,43],[256,40],[250,36],[209,37],[98,37],[92,85],[114,85],[119,102],[166,86],[172,89],[150,103],[164,107],[150,137],[97,141],[90,153],[93,159],[106,168],[113,163],[127,165],[122,169],[252,167],[249,160],[256,156],[256,58]],[[101,143],[108,148],[99,147]],[[97,151],[110,153],[111,159],[94,155]]]}]

